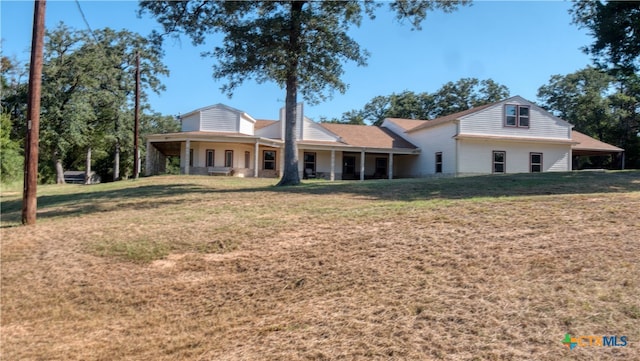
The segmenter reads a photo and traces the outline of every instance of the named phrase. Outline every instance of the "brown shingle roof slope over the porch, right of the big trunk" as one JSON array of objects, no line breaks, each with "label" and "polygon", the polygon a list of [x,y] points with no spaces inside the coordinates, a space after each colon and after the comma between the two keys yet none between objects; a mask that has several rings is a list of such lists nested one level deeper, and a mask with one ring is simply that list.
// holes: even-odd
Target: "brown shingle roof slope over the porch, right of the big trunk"
[{"label": "brown shingle roof slope over the porch, right of the big trunk", "polygon": [[320,123],[328,131],[339,136],[343,142],[355,147],[366,148],[404,148],[417,147],[390,130],[371,125]]}]

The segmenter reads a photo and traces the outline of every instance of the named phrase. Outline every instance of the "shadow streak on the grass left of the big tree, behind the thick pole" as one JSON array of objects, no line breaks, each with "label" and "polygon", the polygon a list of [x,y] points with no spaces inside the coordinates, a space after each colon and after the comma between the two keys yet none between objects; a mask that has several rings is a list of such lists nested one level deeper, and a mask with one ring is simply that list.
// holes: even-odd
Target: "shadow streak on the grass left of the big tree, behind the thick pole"
[{"label": "shadow streak on the grass left of the big tree, behind the thick pole", "polygon": [[[108,212],[115,209],[152,209],[183,202],[175,199],[210,188],[197,184],[162,184],[128,187],[115,190],[95,190],[38,196],[38,218],[65,217]],[[173,198],[173,199],[172,199]],[[2,202],[2,228],[15,226],[22,219],[22,199]]]}]

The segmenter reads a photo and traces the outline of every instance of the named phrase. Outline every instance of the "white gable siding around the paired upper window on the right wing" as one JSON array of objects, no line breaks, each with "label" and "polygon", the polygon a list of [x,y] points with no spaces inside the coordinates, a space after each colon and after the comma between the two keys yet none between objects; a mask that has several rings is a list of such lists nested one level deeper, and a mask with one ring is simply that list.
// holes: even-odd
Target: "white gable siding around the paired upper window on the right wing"
[{"label": "white gable siding around the paired upper window on the right wing", "polygon": [[[505,127],[506,104],[529,105],[529,128]],[[519,97],[460,118],[460,134],[570,139],[571,125]]]}]

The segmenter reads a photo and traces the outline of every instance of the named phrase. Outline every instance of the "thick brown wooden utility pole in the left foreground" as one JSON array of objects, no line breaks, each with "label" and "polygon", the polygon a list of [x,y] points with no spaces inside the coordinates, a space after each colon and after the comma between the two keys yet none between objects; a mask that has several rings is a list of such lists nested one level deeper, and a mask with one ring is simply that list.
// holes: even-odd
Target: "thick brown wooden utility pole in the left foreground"
[{"label": "thick brown wooden utility pole in the left foreground", "polygon": [[22,224],[36,223],[38,210],[38,143],[40,141],[40,93],[42,86],[42,53],[44,48],[44,11],[46,0],[35,0],[29,95],[27,101],[27,139],[24,149],[24,187],[22,191]]}]

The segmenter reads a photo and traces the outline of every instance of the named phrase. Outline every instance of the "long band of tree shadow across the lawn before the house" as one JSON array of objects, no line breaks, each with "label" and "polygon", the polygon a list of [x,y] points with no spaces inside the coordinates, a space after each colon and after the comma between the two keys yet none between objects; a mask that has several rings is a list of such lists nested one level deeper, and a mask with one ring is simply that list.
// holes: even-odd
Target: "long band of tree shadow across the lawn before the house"
[{"label": "long band of tree shadow across the lawn before the house", "polygon": [[[38,197],[38,217],[54,218],[112,210],[145,210],[185,202],[181,197],[204,192],[336,195],[387,201],[471,199],[561,194],[624,193],[640,191],[640,171],[571,172],[490,175],[465,178],[422,178],[359,181],[309,181],[297,186],[216,189],[195,183],[144,185],[115,190],[94,190]],[[21,220],[22,200],[2,202],[2,224]]]}]

